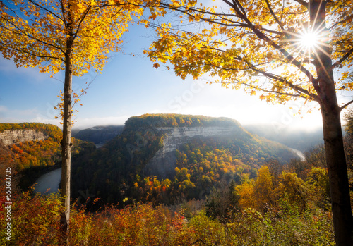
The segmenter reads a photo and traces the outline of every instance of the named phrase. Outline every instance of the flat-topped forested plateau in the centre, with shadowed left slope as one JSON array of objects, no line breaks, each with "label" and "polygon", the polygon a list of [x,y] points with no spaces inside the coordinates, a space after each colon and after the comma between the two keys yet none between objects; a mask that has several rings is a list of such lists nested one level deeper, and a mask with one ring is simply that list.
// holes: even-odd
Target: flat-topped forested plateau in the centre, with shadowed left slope
[{"label": "flat-topped forested plateau in the centre, with shadowed left slope", "polygon": [[229,118],[147,114],[73,165],[73,197],[88,190],[109,204],[205,199],[213,187],[255,178],[270,159],[285,165],[296,157]]}]

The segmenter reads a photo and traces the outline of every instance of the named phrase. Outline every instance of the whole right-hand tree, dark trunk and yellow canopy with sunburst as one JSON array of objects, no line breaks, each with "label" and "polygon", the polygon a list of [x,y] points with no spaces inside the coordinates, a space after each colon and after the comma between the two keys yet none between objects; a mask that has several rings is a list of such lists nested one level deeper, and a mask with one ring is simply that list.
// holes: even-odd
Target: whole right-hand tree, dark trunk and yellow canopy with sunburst
[{"label": "whole right-hand tree, dark trunk and yellow canopy with sunburst", "polygon": [[[158,68],[172,64],[181,78],[215,77],[215,82],[267,102],[317,102],[323,119],[325,159],[337,245],[353,245],[347,164],[337,92],[353,89],[353,1],[195,0],[158,2],[156,9],[181,13],[180,27],[156,27],[159,39],[146,53]],[[182,25],[182,24],[181,24]],[[169,68],[169,67],[167,67]],[[334,71],[339,76],[334,78]]]}]

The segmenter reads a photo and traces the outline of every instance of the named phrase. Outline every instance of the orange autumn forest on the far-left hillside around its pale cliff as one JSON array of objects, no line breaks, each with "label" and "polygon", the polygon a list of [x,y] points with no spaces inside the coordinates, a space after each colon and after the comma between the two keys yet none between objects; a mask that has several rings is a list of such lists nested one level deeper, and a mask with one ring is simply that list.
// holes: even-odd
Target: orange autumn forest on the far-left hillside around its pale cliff
[{"label": "orange autumn forest on the far-left hillside around its pale cliff", "polygon": [[[44,134],[44,140],[32,140],[4,146],[0,143],[0,164],[11,167],[16,175],[18,185],[27,190],[40,175],[51,168],[59,168],[60,140],[62,132],[56,125],[43,123],[0,123],[0,133],[6,130],[36,130]],[[0,140],[1,142],[1,140]],[[73,138],[73,161],[85,152],[95,149],[91,142]],[[4,176],[0,176],[4,178]],[[0,187],[3,187],[1,184]]]}]

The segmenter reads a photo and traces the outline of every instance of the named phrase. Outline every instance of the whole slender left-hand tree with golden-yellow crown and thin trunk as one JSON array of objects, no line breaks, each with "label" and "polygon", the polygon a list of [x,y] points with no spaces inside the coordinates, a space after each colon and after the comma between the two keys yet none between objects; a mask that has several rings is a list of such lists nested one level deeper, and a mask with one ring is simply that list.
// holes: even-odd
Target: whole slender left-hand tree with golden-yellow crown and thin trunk
[{"label": "whole slender left-hand tree with golden-yellow crown and thin trunk", "polygon": [[72,76],[102,70],[109,51],[120,50],[121,35],[133,15],[142,12],[143,8],[108,0],[0,1],[0,51],[4,58],[13,59],[16,66],[38,67],[40,72],[65,73],[61,109],[64,230],[70,216]]}]

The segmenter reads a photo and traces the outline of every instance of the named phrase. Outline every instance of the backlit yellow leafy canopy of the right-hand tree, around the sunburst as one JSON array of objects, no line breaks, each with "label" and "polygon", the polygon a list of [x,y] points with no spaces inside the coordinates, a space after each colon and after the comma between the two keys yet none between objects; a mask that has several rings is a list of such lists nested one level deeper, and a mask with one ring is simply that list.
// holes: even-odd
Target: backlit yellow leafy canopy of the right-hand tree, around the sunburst
[{"label": "backlit yellow leafy canopy of the right-hand tree, around the sunburst", "polygon": [[[310,16],[320,2],[325,16],[322,11]],[[337,92],[353,89],[353,1],[323,2],[163,2],[179,12],[179,22],[158,25],[160,38],[145,53],[156,68],[166,63],[183,79],[210,75],[225,87],[260,92],[268,102],[318,101],[322,56],[332,58]]]}]

